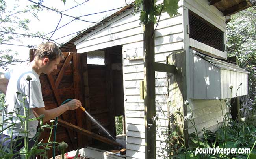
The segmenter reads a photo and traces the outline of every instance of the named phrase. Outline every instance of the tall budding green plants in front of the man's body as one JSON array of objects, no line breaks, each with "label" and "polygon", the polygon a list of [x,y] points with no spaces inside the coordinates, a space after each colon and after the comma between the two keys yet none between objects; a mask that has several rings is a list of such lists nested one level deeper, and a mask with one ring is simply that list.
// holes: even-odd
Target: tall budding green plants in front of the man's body
[{"label": "tall budding green plants in front of the man's body", "polygon": [[[31,78],[29,76],[28,76],[27,80],[29,81],[29,85],[30,85]],[[22,100],[18,99],[18,96],[22,96]],[[54,126],[56,126],[56,125],[54,125],[54,120],[50,121],[51,125],[48,125],[47,123],[45,125],[43,125],[44,115],[40,115],[39,117],[29,119],[29,108],[25,107],[25,100],[28,96],[25,94],[21,94],[20,92],[17,92],[16,101],[19,100],[21,103],[23,103],[24,115],[20,114],[20,109],[16,109],[16,110],[13,110],[13,112],[7,113],[7,106],[2,105],[3,111],[5,112],[4,114],[6,114],[6,116],[5,116],[6,119],[2,118],[2,122],[0,124],[0,127],[1,127],[0,134],[2,134],[2,132],[8,128],[9,132],[10,132],[10,135],[9,135],[10,138],[8,138],[8,140],[10,140],[10,142],[6,146],[3,146],[2,142],[4,142],[4,141],[0,141],[0,158],[9,159],[9,158],[13,158],[13,157],[18,157],[18,155],[20,155],[20,157],[22,159],[30,159],[31,157],[34,157],[35,155],[40,155],[43,159],[48,158],[47,151],[50,150],[50,148],[52,147],[51,145],[54,143],[54,142],[50,141],[50,138],[52,135],[52,130],[53,130]],[[15,114],[17,116],[17,118],[15,120],[13,119],[13,114]],[[18,119],[22,125],[22,127],[20,128],[19,134],[24,133],[25,136],[20,137],[18,135],[17,138],[13,139],[13,130],[14,130],[15,125],[17,125]],[[40,121],[39,128],[38,128],[35,136],[32,139],[29,139],[28,138],[28,122],[34,121],[34,120]],[[9,122],[10,126],[8,126],[7,128],[3,128],[3,123],[6,123],[6,122]],[[22,131],[23,127],[24,127],[24,131]],[[42,141],[39,141],[39,137],[40,137],[41,133],[44,131],[44,128],[50,128],[50,135],[49,135],[47,143],[42,143]],[[19,152],[15,152],[14,151],[15,148],[17,148],[18,146],[21,145],[21,142],[20,142],[21,140],[24,140],[24,147],[21,148]],[[29,146],[28,146],[28,142],[30,140],[35,141],[32,148],[29,148]]]}]

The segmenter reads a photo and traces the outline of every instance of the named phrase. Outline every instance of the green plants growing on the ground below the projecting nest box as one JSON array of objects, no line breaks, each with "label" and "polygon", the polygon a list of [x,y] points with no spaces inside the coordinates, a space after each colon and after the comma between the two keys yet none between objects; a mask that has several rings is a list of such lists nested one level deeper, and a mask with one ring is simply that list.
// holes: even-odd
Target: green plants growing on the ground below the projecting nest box
[{"label": "green plants growing on the ground below the projecting nest box", "polygon": [[[232,89],[231,89],[232,90]],[[180,110],[177,110],[176,114],[170,114],[169,121],[171,128],[166,131],[159,131],[158,121],[156,122],[157,134],[161,133],[164,137],[164,145],[161,150],[158,150],[158,155],[163,155],[164,152],[167,156],[163,156],[166,159],[253,159],[256,156],[256,126],[248,125],[244,121],[233,121],[229,118],[230,104],[225,100],[226,105],[221,105],[221,110],[223,114],[223,122],[218,122],[219,129],[216,132],[211,132],[203,128],[202,130],[197,130],[193,111],[189,107],[189,103],[185,104],[190,108],[190,113],[183,117]],[[164,113],[164,112],[162,112]],[[180,133],[179,120],[182,119],[190,122],[195,132],[189,134],[189,148],[184,145],[184,136]],[[184,130],[182,130],[184,132]],[[158,136],[160,138],[160,135]],[[197,154],[195,155],[196,148],[250,148],[250,154]]]}]

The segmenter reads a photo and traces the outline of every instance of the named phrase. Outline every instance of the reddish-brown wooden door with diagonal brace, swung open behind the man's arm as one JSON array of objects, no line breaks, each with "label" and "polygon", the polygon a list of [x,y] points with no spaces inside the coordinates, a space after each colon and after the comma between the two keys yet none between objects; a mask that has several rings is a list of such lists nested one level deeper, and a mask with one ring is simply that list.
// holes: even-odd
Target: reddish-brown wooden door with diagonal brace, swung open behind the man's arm
[{"label": "reddish-brown wooden door with diagonal brace, swung open behind the man's arm", "polygon": [[[30,49],[30,61],[33,60],[34,51]],[[90,110],[86,54],[74,52],[63,52],[63,54],[65,60],[59,63],[57,70],[49,75],[41,74],[40,76],[45,109],[56,108],[66,99],[79,99],[83,107]],[[91,131],[91,122],[81,109],[67,111],[59,116],[59,119]],[[50,129],[45,129],[45,132],[41,134],[43,142],[48,141],[49,133]],[[88,145],[87,136],[58,125],[56,142],[61,141],[68,143],[69,148],[66,151]],[[58,154],[57,150],[56,154]],[[52,151],[48,153],[48,157],[50,156],[52,156]]]}]

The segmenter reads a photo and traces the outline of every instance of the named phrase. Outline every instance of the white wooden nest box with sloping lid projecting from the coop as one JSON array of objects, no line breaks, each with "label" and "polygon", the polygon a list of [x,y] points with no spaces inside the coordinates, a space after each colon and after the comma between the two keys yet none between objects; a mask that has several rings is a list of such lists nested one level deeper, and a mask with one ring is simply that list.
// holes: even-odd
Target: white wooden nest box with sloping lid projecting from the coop
[{"label": "white wooden nest box with sloping lid projecting from the coop", "polygon": [[[197,52],[192,49],[190,49],[189,57],[193,61],[189,70],[193,74],[190,77],[193,99],[219,100],[247,94],[248,72],[244,69],[213,58],[210,59],[213,63],[210,63],[198,56]],[[232,90],[230,86],[233,86]]]}]

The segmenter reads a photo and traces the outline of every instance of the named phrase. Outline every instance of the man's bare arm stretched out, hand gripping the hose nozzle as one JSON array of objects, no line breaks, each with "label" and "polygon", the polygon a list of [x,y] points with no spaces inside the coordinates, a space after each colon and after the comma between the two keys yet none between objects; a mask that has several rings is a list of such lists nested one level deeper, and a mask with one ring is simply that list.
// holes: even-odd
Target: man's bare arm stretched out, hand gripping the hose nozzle
[{"label": "man's bare arm stretched out, hand gripping the hose nozzle", "polygon": [[35,117],[39,117],[41,114],[44,114],[45,117],[43,119],[43,122],[46,122],[60,116],[67,110],[74,110],[81,106],[82,104],[79,100],[73,99],[72,101],[69,101],[68,103],[63,104],[54,109],[45,110],[45,107],[42,107],[42,108],[32,108],[32,111]]}]

